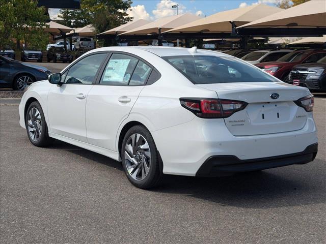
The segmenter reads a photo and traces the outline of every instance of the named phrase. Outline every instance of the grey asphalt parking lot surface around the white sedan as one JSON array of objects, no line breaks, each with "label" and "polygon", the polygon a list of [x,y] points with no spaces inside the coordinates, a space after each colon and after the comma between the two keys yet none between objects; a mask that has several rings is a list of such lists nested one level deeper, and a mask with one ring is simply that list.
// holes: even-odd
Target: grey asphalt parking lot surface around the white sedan
[{"label": "grey asphalt parking lot surface around the white sedan", "polygon": [[0,106],[1,243],[325,243],[326,96],[307,165],[133,187],[122,166],[60,141],[33,146]]}]

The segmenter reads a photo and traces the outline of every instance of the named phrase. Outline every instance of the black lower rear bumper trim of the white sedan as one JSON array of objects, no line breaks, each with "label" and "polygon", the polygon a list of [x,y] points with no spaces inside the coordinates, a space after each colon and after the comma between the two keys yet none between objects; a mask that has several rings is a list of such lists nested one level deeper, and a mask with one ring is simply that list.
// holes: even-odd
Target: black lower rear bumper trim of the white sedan
[{"label": "black lower rear bumper trim of the white sedan", "polygon": [[213,177],[224,173],[237,173],[282,167],[292,164],[307,164],[317,155],[318,143],[309,145],[301,153],[275,157],[240,160],[233,155],[209,157],[199,168],[196,176]]}]

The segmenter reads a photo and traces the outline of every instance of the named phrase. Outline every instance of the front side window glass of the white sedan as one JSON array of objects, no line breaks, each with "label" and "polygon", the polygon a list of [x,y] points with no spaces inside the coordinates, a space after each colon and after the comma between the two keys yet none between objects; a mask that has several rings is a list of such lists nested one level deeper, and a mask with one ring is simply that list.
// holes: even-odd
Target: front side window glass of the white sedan
[{"label": "front side window glass of the white sedan", "polygon": [[95,80],[95,75],[100,65],[102,64],[106,53],[97,53],[87,56],[68,71],[65,83],[66,84],[92,84]]}]

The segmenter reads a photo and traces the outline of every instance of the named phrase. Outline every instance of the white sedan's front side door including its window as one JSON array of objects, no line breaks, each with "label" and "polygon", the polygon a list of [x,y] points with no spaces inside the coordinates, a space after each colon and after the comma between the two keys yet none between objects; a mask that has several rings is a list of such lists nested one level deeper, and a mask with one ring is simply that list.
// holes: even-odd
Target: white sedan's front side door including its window
[{"label": "white sedan's front side door including its window", "polygon": [[49,132],[87,142],[85,106],[107,52],[80,59],[62,75],[61,86],[52,85],[47,98]]}]

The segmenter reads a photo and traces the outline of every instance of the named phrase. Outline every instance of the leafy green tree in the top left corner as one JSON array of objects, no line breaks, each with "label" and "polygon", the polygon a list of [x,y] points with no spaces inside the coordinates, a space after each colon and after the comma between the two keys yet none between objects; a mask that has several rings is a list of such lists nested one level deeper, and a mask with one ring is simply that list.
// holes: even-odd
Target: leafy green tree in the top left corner
[{"label": "leafy green tree in the top left corner", "polygon": [[48,17],[43,7],[37,7],[37,1],[0,0],[0,6],[0,48],[13,46],[14,40],[45,48]]}]

